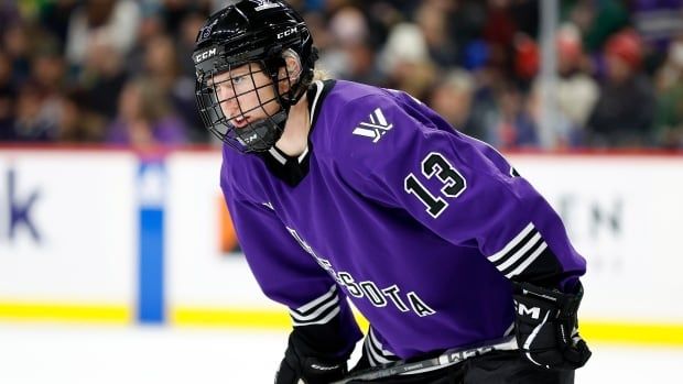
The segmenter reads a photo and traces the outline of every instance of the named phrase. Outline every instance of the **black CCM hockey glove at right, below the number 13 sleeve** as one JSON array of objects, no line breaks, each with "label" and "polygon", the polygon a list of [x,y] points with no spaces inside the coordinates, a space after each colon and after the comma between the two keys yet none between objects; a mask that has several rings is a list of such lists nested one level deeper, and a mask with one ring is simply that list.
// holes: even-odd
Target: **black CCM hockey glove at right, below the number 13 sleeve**
[{"label": "black CCM hockey glove at right, below the number 13 sleeve", "polygon": [[578,336],[576,312],[583,297],[542,288],[528,283],[514,284],[514,328],[520,352],[544,369],[575,370],[583,366],[590,350]]}]

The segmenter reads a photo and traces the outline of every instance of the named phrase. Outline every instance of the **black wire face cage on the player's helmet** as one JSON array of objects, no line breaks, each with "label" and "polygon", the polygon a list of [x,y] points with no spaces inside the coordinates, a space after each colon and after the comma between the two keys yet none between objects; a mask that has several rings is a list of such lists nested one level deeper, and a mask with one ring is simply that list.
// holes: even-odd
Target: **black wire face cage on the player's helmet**
[{"label": "black wire face cage on the player's helmet", "polygon": [[[259,61],[228,64],[220,69],[197,74],[196,99],[205,127],[242,153],[263,152],[272,147],[282,135],[288,118],[288,101],[292,100],[294,89],[291,74],[283,66],[285,76],[279,78],[278,70],[269,73],[265,68],[265,63]],[[258,74],[268,79],[257,81],[254,76]],[[289,91],[285,95],[280,95],[280,83],[286,83],[285,89]],[[269,87],[272,88],[272,97],[265,98]],[[218,89],[226,91],[219,92]],[[267,106],[271,103],[277,103],[274,112],[268,111]],[[226,111],[230,116],[226,116]]]}]

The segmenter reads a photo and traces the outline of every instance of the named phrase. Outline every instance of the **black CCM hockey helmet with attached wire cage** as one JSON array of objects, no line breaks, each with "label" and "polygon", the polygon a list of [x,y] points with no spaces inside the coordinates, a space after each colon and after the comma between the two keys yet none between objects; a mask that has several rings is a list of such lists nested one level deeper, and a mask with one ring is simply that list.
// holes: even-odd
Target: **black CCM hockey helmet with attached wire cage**
[{"label": "black CCM hockey helmet with attached wire cage", "polygon": [[[286,68],[285,53],[293,54],[300,62],[302,70],[299,76],[288,73],[284,78],[279,78],[280,68]],[[193,53],[195,95],[204,124],[220,140],[242,152],[269,150],[282,134],[289,108],[308,88],[316,59],[317,51],[303,18],[283,1],[243,0],[214,13],[199,30]],[[274,96],[268,100],[258,96],[259,106],[249,110],[239,106],[241,114],[259,108],[265,111],[263,106],[273,101],[280,105],[280,110],[273,114],[267,112],[265,119],[250,121],[247,127],[238,129],[220,108],[226,100],[219,100],[214,78],[249,63],[258,64],[249,66],[258,68],[250,69],[252,89],[263,88],[258,88],[253,80],[253,74],[263,72],[272,80],[268,87],[273,87]],[[289,90],[284,94],[279,91],[281,81],[289,83]]]}]

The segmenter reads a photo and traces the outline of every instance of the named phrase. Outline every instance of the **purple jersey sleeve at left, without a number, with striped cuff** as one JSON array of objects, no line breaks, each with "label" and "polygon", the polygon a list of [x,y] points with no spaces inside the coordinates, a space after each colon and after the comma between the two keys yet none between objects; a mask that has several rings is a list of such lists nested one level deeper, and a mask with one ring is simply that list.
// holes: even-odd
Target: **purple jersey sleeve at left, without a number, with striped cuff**
[{"label": "purple jersey sleeve at left, without a number, with striped cuff", "polygon": [[335,281],[267,205],[240,199],[225,176],[221,188],[249,267],[263,293],[289,308],[303,353],[348,356],[361,332]]}]

